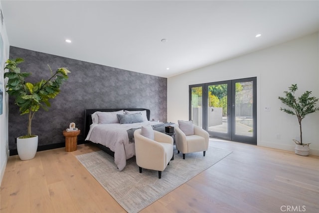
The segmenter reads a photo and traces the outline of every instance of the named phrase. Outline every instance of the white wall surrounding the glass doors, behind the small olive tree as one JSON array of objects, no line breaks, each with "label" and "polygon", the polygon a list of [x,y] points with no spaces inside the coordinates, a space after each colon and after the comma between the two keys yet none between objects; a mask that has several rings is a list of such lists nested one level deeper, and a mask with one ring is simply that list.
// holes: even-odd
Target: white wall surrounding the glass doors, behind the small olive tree
[{"label": "white wall surrounding the glass doors, behind the small olive tree", "polygon": [[[167,121],[188,120],[188,85],[257,77],[257,145],[294,151],[296,116],[280,111],[278,96],[298,84],[319,97],[319,33],[203,67],[167,79]],[[264,108],[270,107],[270,112]],[[319,107],[319,104],[317,104]],[[277,139],[280,135],[280,139]],[[303,120],[303,142],[319,155],[319,112]]]}]

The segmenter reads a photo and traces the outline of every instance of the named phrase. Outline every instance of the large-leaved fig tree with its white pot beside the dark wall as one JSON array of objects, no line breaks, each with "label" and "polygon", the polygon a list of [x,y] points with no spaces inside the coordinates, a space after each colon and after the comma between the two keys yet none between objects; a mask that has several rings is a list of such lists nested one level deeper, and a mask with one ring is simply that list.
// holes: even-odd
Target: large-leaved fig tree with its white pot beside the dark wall
[{"label": "large-leaved fig tree with its white pot beside the dark wall", "polygon": [[38,136],[31,133],[31,122],[35,112],[40,108],[48,111],[50,107],[49,99],[55,98],[60,92],[60,86],[68,79],[67,68],[58,68],[52,72],[51,77],[47,80],[41,79],[39,82],[30,83],[24,80],[30,75],[29,72],[20,72],[17,64],[23,62],[22,58],[8,59],[5,63],[5,69],[8,72],[4,73],[4,78],[8,78],[6,84],[6,92],[15,98],[15,104],[19,107],[20,115],[28,115],[27,134],[17,138],[17,152],[21,160],[29,160],[34,158]]}]

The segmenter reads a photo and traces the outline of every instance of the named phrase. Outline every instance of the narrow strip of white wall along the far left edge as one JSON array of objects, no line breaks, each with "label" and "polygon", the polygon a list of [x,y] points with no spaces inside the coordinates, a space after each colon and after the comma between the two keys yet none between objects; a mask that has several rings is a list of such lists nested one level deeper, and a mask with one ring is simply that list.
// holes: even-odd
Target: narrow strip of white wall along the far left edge
[{"label": "narrow strip of white wall along the far left edge", "polygon": [[[1,2],[0,2],[1,3]],[[0,8],[1,4],[0,4]],[[3,11],[2,11],[3,13]],[[4,19],[5,20],[5,19]],[[0,52],[0,54],[3,54],[3,62],[8,58],[9,56],[9,41],[7,38],[6,30],[5,30],[5,24],[3,23],[3,26],[0,23],[0,34],[3,40],[3,53]],[[0,87],[3,92],[3,112],[2,115],[0,115],[0,185],[2,181],[2,177],[5,170],[5,165],[9,156],[9,150],[8,150],[8,106],[7,106],[7,94],[4,92],[4,80],[3,80],[3,67],[0,67]]]}]

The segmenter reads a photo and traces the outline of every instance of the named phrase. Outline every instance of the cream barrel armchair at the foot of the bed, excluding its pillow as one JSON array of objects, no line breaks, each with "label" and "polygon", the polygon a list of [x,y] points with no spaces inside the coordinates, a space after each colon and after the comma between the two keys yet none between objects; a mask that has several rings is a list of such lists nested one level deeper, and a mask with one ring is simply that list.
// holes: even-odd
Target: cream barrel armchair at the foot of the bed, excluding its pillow
[{"label": "cream barrel armchair at the foot of the bed, excluding its pillow", "polygon": [[164,171],[173,157],[173,138],[164,133],[154,131],[154,140],[144,137],[141,129],[134,132],[136,163],[139,166],[140,173],[142,168]]}]

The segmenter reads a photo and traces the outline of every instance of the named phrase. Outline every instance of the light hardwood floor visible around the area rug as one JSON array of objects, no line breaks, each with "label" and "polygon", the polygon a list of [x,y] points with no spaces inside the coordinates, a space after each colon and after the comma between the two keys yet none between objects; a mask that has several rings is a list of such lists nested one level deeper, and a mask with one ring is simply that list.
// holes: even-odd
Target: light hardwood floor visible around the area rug
[{"label": "light hardwood floor visible around the area rug", "polygon": [[[319,157],[211,143],[233,153],[142,213],[319,213]],[[28,161],[9,157],[0,212],[125,213],[75,158],[97,150],[82,144],[70,153],[64,148],[37,152]]]}]

